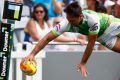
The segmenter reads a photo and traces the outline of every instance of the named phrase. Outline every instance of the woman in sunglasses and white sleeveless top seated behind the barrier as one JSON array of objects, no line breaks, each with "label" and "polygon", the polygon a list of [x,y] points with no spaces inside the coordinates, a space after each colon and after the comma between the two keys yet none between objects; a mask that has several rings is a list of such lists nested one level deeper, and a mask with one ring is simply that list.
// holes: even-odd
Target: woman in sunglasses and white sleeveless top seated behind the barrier
[{"label": "woman in sunglasses and white sleeveless top seated behind the barrier", "polygon": [[28,21],[25,28],[25,41],[38,41],[44,37],[50,31],[47,21],[47,8],[43,4],[37,4],[34,7],[33,19]]}]

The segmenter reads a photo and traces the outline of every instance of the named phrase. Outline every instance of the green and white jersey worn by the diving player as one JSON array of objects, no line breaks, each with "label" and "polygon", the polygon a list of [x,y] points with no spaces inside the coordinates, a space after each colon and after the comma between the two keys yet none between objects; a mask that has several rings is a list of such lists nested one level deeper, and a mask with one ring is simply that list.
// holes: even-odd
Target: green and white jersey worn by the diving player
[{"label": "green and white jersey worn by the diving player", "polygon": [[67,19],[57,24],[52,32],[59,36],[63,32],[76,32],[84,35],[97,35],[100,36],[109,25],[109,15],[104,13],[96,13],[91,10],[83,10],[84,19],[79,26],[71,25]]}]

